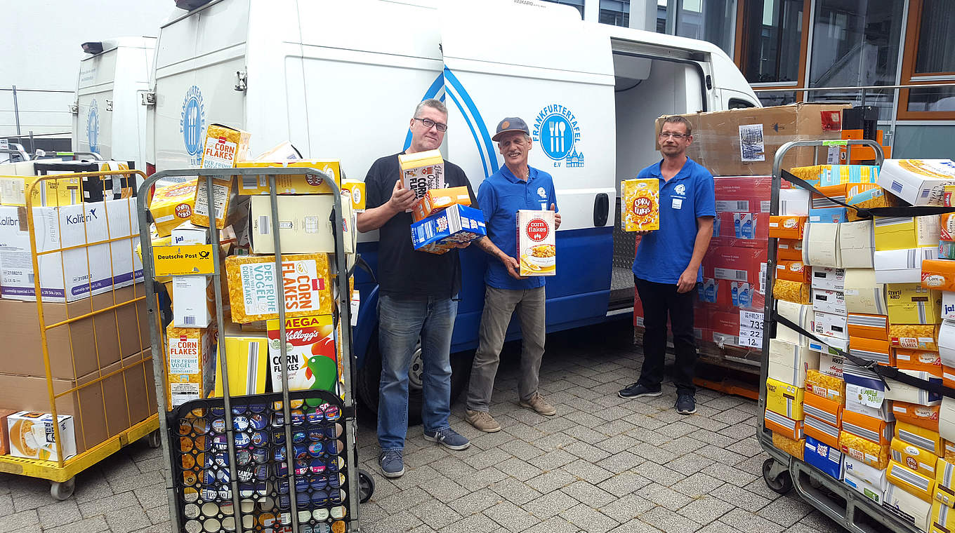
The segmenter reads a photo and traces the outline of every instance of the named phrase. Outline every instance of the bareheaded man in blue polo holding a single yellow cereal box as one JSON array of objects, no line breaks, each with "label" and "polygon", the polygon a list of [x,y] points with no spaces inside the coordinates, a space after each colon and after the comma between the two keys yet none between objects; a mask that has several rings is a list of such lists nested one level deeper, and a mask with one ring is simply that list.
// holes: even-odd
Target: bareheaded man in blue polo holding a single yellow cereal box
[{"label": "bareheaded man in blue polo holding a single yellow cereal box", "polygon": [[618,394],[621,398],[660,396],[667,351],[667,315],[673,331],[676,365],[676,411],[696,412],[693,373],[693,300],[703,280],[700,263],[710,246],[716,198],[713,176],[687,157],[692,125],[682,116],[668,116],[660,129],[663,160],[637,177],[660,180],[660,229],[640,232],[643,238],[633,261],[633,282],[644,306],[644,366],[640,379]]}]

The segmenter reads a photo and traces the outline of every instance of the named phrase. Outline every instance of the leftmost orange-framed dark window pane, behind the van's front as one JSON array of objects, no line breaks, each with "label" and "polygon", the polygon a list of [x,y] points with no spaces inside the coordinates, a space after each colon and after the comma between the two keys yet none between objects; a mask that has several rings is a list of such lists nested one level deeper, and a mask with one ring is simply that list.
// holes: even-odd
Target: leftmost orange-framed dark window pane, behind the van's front
[{"label": "leftmost orange-framed dark window pane, behind the van's front", "polygon": [[750,83],[797,84],[803,0],[749,0],[743,24],[743,74]]}]

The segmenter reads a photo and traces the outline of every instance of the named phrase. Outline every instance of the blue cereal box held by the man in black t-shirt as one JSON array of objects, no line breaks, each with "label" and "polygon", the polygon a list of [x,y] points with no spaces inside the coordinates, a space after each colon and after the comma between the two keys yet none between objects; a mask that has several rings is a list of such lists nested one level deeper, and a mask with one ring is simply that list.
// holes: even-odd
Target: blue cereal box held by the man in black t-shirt
[{"label": "blue cereal box held by the man in black t-shirt", "polygon": [[444,254],[455,244],[486,236],[484,214],[479,209],[454,204],[412,224],[412,245],[419,252]]}]

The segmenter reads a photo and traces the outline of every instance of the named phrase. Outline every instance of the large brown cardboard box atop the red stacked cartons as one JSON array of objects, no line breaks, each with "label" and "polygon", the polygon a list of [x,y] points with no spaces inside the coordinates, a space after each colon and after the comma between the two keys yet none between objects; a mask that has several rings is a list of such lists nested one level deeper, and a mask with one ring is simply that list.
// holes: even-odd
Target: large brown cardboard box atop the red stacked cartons
[{"label": "large brown cardboard box atop the red stacked cartons", "polygon": [[[706,161],[714,175],[772,174],[775,152],[786,142],[795,138],[838,139],[840,114],[846,107],[795,104],[685,114],[695,133],[687,155],[694,161]],[[656,126],[659,132],[662,117]],[[816,163],[812,148],[796,148],[786,153],[782,168]]]}]

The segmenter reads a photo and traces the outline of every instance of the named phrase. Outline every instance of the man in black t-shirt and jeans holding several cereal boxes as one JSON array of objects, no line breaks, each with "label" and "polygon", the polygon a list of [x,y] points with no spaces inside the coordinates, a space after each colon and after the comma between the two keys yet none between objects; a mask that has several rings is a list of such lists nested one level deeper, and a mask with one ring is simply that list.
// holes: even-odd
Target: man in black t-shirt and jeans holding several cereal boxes
[{"label": "man in black t-shirt and jeans holding several cereal boxes", "polygon": [[[410,129],[412,143],[402,154],[437,149],[448,130],[447,108],[440,100],[424,100],[414,110]],[[412,215],[405,211],[417,198],[414,191],[402,186],[398,155],[381,157],[371,165],[365,177],[368,209],[358,214],[359,232],[378,230],[378,464],[388,478],[405,473],[402,452],[408,433],[408,370],[419,337],[424,365],[424,438],[452,450],[471,444],[448,423],[451,334],[461,285],[457,250],[440,256],[414,251]],[[467,187],[477,207],[464,171],[445,161],[444,173],[447,187]]]}]

